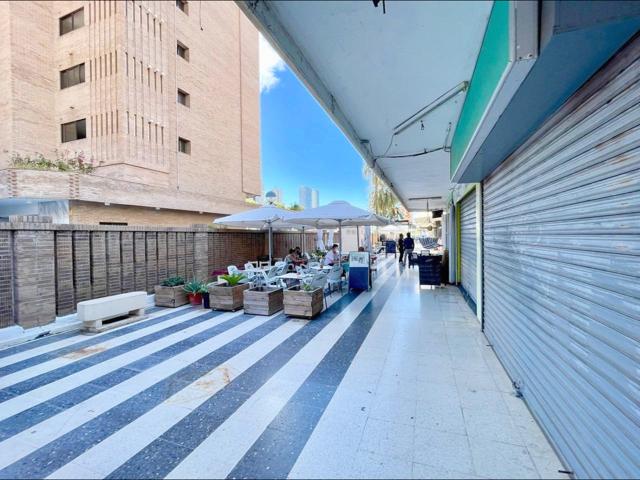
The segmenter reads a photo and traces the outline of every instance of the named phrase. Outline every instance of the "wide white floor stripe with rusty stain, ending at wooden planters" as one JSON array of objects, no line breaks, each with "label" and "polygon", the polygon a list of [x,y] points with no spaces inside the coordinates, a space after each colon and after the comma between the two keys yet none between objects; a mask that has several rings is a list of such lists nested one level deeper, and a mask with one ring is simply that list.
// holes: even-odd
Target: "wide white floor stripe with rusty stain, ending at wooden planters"
[{"label": "wide white floor stripe with rusty stain, ending at wooden planters", "polygon": [[304,321],[290,321],[278,327],[126,428],[76,458],[73,465],[62,467],[48,478],[69,478],[77,466],[93,471],[93,475],[89,478],[105,477],[280,345],[304,324]]}]

